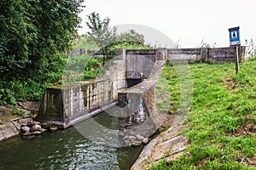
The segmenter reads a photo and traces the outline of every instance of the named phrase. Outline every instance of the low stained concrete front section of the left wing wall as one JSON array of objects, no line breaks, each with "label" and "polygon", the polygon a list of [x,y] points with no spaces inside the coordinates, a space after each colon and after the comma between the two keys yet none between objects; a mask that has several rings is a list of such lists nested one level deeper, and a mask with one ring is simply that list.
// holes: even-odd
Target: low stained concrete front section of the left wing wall
[{"label": "low stained concrete front section of the left wing wall", "polygon": [[111,82],[108,80],[47,88],[36,120],[69,127],[74,120],[89,115],[111,101]]}]

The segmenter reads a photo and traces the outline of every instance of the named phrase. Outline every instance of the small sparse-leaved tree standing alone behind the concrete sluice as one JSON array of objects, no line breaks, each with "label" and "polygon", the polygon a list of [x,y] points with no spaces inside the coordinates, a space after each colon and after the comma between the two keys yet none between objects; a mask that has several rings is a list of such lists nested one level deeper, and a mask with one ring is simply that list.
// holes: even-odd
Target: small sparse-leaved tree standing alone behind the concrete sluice
[{"label": "small sparse-leaved tree standing alone behind the concrete sluice", "polygon": [[93,12],[88,15],[86,26],[89,27],[90,31],[88,34],[101,48],[103,54],[103,65],[105,64],[106,57],[109,57],[109,45],[117,41],[117,28],[110,28],[110,19],[101,19],[100,14]]}]

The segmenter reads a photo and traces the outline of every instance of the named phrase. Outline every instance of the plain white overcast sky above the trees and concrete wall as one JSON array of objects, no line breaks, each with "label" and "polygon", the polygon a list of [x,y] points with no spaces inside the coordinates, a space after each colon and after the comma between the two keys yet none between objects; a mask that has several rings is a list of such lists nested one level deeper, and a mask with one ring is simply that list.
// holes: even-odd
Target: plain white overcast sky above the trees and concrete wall
[{"label": "plain white overcast sky above the trees and concrete wall", "polygon": [[201,41],[230,45],[230,27],[240,26],[241,45],[245,39],[256,41],[255,0],[84,0],[83,29],[88,14],[96,11],[110,18],[111,26],[136,24],[152,27],[182,48],[195,48]]}]

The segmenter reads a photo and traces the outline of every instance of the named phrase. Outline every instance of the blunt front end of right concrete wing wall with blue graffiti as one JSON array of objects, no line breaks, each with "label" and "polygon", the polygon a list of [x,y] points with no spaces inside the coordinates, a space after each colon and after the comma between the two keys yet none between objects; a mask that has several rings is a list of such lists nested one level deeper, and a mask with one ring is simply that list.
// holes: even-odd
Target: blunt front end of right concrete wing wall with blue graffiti
[{"label": "blunt front end of right concrete wing wall with blue graffiti", "polygon": [[[119,93],[119,106],[124,108],[119,114],[119,124],[134,124],[132,132],[148,137],[157,130],[155,118],[155,96],[154,86],[150,81],[144,81],[132,88]],[[129,106],[128,106],[129,105]],[[129,107],[129,109],[127,109]],[[136,113],[140,107],[143,107],[145,120],[138,122]],[[135,119],[131,122],[130,116],[135,113]]]}]

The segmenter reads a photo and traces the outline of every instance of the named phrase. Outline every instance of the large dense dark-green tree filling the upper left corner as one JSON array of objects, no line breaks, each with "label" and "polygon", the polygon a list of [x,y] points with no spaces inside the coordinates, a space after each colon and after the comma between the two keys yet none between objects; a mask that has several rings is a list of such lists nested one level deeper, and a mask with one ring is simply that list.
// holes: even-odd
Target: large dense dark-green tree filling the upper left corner
[{"label": "large dense dark-green tree filling the upper left corner", "polygon": [[[0,72],[31,77],[71,47],[84,0],[1,0]],[[21,75],[21,76],[20,76]],[[2,78],[2,77],[1,77]]]}]

